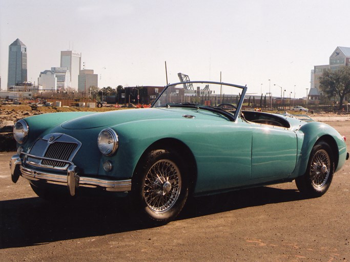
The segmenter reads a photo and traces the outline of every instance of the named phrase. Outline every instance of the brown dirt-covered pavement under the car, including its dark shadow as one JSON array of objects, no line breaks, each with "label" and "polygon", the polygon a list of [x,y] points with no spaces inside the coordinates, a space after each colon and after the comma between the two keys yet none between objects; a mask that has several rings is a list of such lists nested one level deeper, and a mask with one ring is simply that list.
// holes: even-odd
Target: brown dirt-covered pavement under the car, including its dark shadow
[{"label": "brown dirt-covered pavement under the car, including its dark shadow", "polygon": [[[345,135],[350,121],[327,122]],[[350,160],[321,198],[295,183],[201,197],[145,227],[111,195],[50,204],[0,152],[0,261],[350,261]]]}]

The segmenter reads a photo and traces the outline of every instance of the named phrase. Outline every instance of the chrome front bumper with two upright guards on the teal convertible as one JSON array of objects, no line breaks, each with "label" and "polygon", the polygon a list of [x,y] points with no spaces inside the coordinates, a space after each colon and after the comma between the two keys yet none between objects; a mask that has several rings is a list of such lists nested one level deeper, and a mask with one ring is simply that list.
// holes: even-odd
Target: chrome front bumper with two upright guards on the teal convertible
[{"label": "chrome front bumper with two upright guards on the teal convertible", "polygon": [[93,177],[80,177],[78,168],[70,165],[65,174],[55,174],[48,171],[37,171],[22,165],[18,155],[10,160],[11,178],[14,183],[19,176],[32,181],[45,181],[50,184],[68,186],[71,195],[75,195],[75,189],[81,187],[101,187],[107,191],[126,192],[131,190],[131,179],[127,180],[106,180]]}]

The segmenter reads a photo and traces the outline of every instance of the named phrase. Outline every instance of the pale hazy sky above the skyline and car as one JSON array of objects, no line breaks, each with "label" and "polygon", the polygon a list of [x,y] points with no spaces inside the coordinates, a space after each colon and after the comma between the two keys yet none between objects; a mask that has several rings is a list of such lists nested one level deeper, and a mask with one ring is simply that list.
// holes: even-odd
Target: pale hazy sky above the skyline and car
[{"label": "pale hazy sky above the skyline and car", "polygon": [[59,66],[60,51],[75,50],[100,88],[165,85],[167,61],[169,82],[179,72],[219,81],[221,72],[249,93],[271,83],[274,96],[280,85],[286,97],[303,97],[314,65],[350,47],[349,10],[348,0],[0,0],[2,90],[8,46],[19,38],[32,82]]}]

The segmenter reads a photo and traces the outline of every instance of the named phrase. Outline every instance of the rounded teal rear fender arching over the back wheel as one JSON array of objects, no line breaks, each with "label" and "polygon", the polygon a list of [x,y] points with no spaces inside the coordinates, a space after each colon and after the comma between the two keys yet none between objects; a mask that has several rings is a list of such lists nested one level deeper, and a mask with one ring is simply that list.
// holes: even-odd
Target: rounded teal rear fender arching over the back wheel
[{"label": "rounded teal rear fender arching over the back wheel", "polygon": [[[307,168],[311,150],[318,140],[330,141],[335,145],[334,153],[336,170],[338,171],[345,163],[346,144],[344,139],[332,126],[320,122],[306,123],[296,132],[298,136],[298,159],[297,166],[292,176],[302,176]],[[332,144],[331,144],[332,147]]]}]

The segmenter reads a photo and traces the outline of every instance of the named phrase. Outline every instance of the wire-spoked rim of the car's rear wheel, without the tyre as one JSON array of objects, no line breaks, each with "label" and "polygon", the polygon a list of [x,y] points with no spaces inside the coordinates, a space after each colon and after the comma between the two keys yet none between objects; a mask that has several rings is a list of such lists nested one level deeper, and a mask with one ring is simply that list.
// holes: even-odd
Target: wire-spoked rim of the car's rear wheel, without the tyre
[{"label": "wire-spoked rim of the car's rear wheel, without the tyre", "polygon": [[310,177],[316,187],[322,187],[330,175],[330,156],[326,150],[318,150],[311,162]]}]

